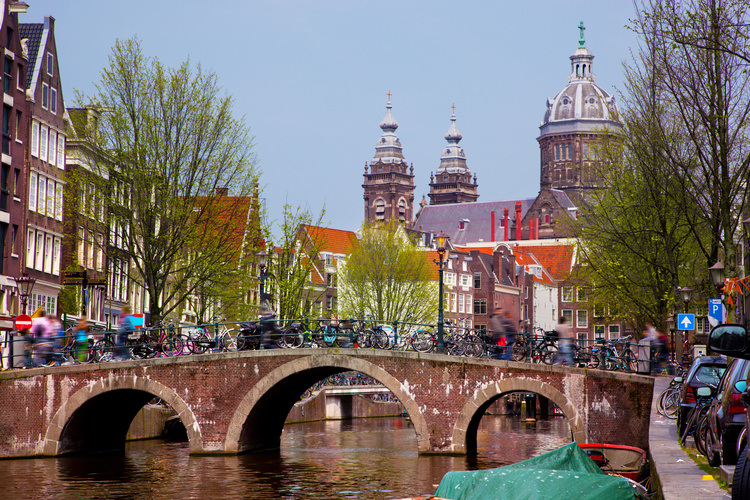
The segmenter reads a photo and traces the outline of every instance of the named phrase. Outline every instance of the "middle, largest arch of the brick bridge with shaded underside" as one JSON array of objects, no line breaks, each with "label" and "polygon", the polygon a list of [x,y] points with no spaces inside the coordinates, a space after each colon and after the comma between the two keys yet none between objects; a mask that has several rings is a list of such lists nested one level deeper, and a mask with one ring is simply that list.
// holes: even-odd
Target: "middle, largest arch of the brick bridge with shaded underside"
[{"label": "middle, largest arch of the brick bridge with shaded underside", "polygon": [[419,451],[431,449],[424,415],[398,379],[366,359],[324,355],[294,359],[259,380],[232,415],[224,451],[241,453],[278,448],[286,416],[300,396],[315,382],[345,371],[361,372],[388,388],[411,418]]}]

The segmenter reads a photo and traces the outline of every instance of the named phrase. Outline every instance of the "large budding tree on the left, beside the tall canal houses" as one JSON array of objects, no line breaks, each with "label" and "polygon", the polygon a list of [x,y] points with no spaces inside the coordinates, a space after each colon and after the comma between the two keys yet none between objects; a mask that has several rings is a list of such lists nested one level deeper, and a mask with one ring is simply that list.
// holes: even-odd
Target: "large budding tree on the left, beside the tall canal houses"
[{"label": "large budding tree on the left, beside the tall canal houses", "polygon": [[157,321],[252,251],[233,238],[258,175],[252,138],[216,74],[187,61],[165,67],[135,39],[115,43],[96,89],[107,222],[122,232],[130,277]]}]

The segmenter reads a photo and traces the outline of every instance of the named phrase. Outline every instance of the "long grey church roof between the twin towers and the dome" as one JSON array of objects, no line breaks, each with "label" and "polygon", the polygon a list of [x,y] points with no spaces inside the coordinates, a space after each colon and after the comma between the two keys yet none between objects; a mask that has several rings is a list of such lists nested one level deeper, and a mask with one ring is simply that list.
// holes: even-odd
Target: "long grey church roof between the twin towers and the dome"
[{"label": "long grey church roof between the twin towers and the dome", "polygon": [[[414,229],[427,233],[444,232],[454,245],[463,245],[478,241],[492,240],[492,212],[495,212],[495,241],[504,237],[505,228],[500,225],[504,211],[508,209],[510,221],[515,219],[516,203],[521,203],[521,219],[534,203],[535,198],[503,201],[477,201],[472,203],[450,203],[446,205],[427,205],[417,214]],[[466,221],[464,229],[459,223]],[[512,223],[510,224],[512,227]]]}]

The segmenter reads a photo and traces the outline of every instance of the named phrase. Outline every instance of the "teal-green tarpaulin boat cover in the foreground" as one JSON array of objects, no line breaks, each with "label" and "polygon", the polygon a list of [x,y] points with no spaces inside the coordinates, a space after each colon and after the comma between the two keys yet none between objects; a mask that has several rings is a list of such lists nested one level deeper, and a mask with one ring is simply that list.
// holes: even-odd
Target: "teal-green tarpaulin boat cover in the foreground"
[{"label": "teal-green tarpaulin boat cover in the foreground", "polygon": [[576,443],[497,469],[448,472],[435,496],[452,500],[630,500],[624,477],[602,472]]}]

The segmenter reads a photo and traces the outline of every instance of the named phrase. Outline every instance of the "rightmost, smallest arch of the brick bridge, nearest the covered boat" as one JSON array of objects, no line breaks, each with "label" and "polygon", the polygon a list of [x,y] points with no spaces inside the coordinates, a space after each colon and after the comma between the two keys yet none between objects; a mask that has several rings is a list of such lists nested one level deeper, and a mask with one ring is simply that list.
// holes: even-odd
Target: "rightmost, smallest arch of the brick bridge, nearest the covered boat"
[{"label": "rightmost, smallest arch of the brick bridge, nearest the covered boat", "polygon": [[586,429],[575,405],[552,385],[529,378],[512,378],[488,384],[477,391],[474,397],[466,402],[453,427],[453,451],[456,453],[474,453],[477,450],[477,430],[484,412],[500,397],[511,392],[533,392],[544,396],[555,403],[568,419],[573,440],[579,443],[586,441]]}]

